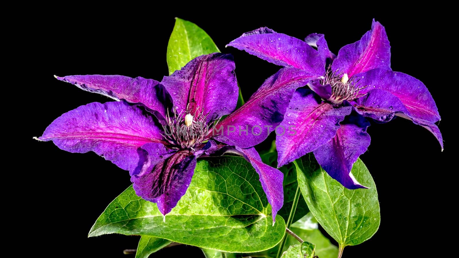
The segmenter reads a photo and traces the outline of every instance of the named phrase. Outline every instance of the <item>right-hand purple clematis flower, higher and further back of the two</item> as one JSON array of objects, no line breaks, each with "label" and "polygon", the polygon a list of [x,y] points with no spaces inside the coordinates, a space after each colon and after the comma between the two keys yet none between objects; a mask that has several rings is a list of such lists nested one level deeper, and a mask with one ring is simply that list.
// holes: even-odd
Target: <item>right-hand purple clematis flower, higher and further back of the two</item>
[{"label": "right-hand purple clematis flower, higher and further back of the two", "polygon": [[302,41],[269,28],[242,34],[228,45],[277,65],[316,72],[318,79],[308,83],[309,89],[297,90],[285,112],[281,125],[295,125],[297,134],[276,136],[279,166],[313,151],[332,178],[349,189],[363,188],[351,168],[370,144],[366,118],[382,123],[394,116],[410,119],[430,130],[443,149],[435,101],[420,80],[391,70],[386,31],[375,20],[338,56],[323,34]]}]

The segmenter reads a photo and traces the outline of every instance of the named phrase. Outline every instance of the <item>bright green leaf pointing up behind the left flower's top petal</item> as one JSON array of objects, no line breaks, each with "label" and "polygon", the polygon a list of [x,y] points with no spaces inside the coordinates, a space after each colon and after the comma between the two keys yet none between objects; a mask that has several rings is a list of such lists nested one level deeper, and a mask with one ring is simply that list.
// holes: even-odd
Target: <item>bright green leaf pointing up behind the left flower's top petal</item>
[{"label": "bright green leaf pointing up behind the left flower's top petal", "polygon": [[214,52],[220,50],[202,28],[193,22],[175,18],[167,52],[169,75],[184,67],[196,56]]}]

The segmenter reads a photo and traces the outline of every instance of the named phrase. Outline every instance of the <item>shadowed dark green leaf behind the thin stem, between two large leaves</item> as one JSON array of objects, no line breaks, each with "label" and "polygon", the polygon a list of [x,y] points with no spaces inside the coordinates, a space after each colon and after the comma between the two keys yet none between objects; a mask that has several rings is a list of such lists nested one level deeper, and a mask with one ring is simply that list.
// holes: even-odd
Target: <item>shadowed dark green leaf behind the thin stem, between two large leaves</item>
[{"label": "shadowed dark green leaf behind the thin stem, between two large leaves", "polygon": [[[268,152],[261,154],[260,156],[263,163],[268,164],[271,167],[277,168],[277,151],[275,141],[273,141],[271,149]],[[287,221],[298,187],[297,169],[295,168],[295,165],[293,165],[293,163],[289,163],[279,168],[279,170],[282,173],[284,173],[284,181],[282,183],[284,185],[284,206],[280,208],[277,214],[282,216],[282,218],[284,218],[284,220]],[[295,210],[295,214],[293,216],[292,221],[295,222],[298,219],[301,219],[308,212],[308,206],[304,202],[303,196],[300,196],[300,199],[298,200],[297,209]]]}]

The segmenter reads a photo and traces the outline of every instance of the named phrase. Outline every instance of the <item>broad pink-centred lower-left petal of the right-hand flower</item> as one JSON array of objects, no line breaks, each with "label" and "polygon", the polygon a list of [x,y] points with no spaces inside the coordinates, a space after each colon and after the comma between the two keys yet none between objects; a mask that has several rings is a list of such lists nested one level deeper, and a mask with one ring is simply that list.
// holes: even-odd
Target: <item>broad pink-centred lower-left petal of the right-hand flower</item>
[{"label": "broad pink-centred lower-left petal of the right-hand flower", "polygon": [[324,145],[336,134],[352,107],[333,107],[320,100],[312,90],[298,89],[291,98],[280,126],[285,134],[276,135],[278,167]]}]

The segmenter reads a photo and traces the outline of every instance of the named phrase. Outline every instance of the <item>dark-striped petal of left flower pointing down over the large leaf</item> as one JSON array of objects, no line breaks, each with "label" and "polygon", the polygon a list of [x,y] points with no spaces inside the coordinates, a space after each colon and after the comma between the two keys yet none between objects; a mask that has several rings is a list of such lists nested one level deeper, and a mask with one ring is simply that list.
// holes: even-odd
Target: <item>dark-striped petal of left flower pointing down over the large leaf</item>
[{"label": "dark-striped petal of left flower pointing down over the large leaf", "polygon": [[196,157],[188,150],[180,150],[157,163],[152,170],[133,175],[135,193],[155,202],[166,215],[177,205],[190,185],[196,167]]}]

